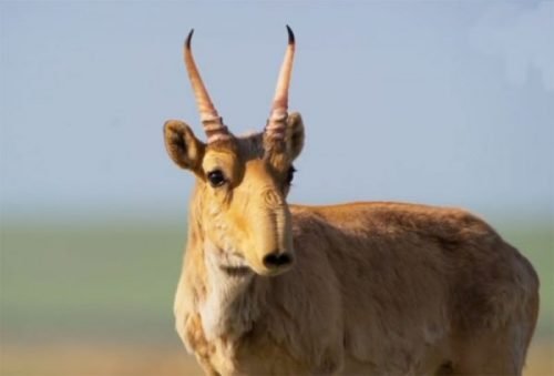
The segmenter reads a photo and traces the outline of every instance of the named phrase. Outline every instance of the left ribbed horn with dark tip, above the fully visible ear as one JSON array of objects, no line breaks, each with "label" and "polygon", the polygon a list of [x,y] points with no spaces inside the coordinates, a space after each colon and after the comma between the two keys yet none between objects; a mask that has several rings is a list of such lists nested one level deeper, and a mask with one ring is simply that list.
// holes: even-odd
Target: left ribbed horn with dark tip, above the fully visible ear
[{"label": "left ribbed horn with dark tip, above the fully visible ear", "polygon": [[196,104],[198,105],[198,111],[201,113],[202,124],[204,125],[204,131],[206,132],[207,142],[214,142],[217,140],[224,140],[230,138],[227,126],[223,124],[223,119],[218,115],[217,110],[212,103],[209,95],[207,93],[204,82],[202,82],[201,74],[194,62],[193,52],[191,50],[191,40],[193,39],[194,29],[191,30],[188,37],[185,41],[185,65],[188,73],[188,79],[193,85],[194,96],[196,98]]}]

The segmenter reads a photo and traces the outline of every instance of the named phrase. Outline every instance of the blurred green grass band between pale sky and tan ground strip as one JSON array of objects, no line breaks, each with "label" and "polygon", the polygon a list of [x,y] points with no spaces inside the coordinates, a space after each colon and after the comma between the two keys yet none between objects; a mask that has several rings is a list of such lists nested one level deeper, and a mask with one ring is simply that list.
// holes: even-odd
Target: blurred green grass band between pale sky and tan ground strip
[{"label": "blurred green grass band between pale sky and tan ground strip", "polygon": [[[497,226],[541,277],[537,337],[554,334],[553,231]],[[32,224],[1,230],[3,343],[178,343],[172,303],[185,223]]]}]

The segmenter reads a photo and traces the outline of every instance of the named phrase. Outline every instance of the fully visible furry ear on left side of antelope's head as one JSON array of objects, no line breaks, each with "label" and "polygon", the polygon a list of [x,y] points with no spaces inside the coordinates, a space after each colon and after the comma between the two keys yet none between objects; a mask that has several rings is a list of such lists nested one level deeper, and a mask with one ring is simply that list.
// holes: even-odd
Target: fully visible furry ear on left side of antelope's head
[{"label": "fully visible furry ear on left side of antelope's head", "polygon": [[198,172],[206,145],[196,139],[191,128],[179,120],[164,124],[165,149],[170,157],[183,169]]}]

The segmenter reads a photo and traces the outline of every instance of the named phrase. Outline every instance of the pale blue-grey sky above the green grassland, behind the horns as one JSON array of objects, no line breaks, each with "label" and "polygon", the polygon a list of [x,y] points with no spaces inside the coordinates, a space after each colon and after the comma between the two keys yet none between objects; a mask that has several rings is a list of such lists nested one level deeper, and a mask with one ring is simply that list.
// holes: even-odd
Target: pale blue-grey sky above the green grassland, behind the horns
[{"label": "pale blue-grey sky above the green grassland, behind the horns", "polygon": [[0,2],[3,219],[185,213],[167,119],[201,131],[194,53],[236,133],[261,130],[286,47],[306,145],[289,201],[554,213],[554,2]]}]

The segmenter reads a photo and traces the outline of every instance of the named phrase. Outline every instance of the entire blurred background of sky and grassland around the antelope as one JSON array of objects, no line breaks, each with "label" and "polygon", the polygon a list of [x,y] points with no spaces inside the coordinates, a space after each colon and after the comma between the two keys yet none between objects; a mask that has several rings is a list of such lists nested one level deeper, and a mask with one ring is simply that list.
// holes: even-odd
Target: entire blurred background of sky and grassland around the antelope
[{"label": "entire blurred background of sky and grassland around the antelope", "polygon": [[198,373],[173,329],[198,125],[182,43],[235,133],[261,130],[297,37],[307,126],[289,201],[469,209],[542,282],[554,364],[554,3],[0,2],[2,375]]}]

